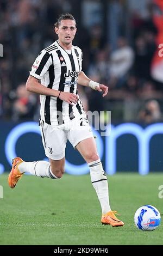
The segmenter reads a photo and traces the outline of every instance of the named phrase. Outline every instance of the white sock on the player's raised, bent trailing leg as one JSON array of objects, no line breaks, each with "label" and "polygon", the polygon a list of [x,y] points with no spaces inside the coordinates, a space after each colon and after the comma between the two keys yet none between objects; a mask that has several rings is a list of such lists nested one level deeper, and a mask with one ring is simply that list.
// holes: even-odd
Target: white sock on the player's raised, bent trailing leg
[{"label": "white sock on the player's raised, bent trailing leg", "polygon": [[35,161],[35,162],[22,162],[19,164],[18,169],[21,173],[31,173],[35,176],[51,179],[59,179],[52,173],[51,164],[46,161]]}]

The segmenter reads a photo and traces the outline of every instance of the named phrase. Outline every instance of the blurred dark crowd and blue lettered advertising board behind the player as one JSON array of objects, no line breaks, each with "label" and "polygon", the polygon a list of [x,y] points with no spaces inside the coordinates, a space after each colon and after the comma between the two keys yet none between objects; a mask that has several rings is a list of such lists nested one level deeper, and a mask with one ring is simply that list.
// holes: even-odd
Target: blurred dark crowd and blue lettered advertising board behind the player
[{"label": "blurred dark crowd and blue lettered advertising board behind the player", "polygon": [[[83,71],[109,86],[104,99],[78,86],[85,111],[111,111],[111,124],[119,128],[113,128],[112,144],[97,138],[106,172],[163,170],[161,0],[1,0],[0,10],[0,173],[10,169],[15,155],[26,161],[45,158],[36,124],[39,96],[24,86],[37,54],[57,39],[54,22],[65,12],[77,21],[73,44],[83,50]],[[117,146],[115,154],[111,145]],[[67,153],[68,173],[89,172],[70,145]]]}]

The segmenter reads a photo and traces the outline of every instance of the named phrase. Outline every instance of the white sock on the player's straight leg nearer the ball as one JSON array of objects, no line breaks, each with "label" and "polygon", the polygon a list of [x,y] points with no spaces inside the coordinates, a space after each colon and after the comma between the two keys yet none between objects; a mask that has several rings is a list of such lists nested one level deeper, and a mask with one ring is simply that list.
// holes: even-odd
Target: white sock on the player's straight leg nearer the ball
[{"label": "white sock on the player's straight leg nearer the ball", "polygon": [[101,160],[98,159],[91,163],[88,163],[90,168],[90,175],[92,185],[96,190],[99,202],[101,204],[102,214],[110,211],[109,205],[109,191],[108,191],[108,180],[103,170]]}]

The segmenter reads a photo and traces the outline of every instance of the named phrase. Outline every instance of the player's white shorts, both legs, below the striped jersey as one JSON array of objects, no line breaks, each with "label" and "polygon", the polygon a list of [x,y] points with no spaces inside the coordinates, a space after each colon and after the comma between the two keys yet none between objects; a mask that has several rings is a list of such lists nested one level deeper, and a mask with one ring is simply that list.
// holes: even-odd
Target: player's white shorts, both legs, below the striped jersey
[{"label": "player's white shorts, both legs, below the striped jersey", "polygon": [[40,129],[45,155],[52,160],[65,156],[67,139],[75,148],[83,139],[93,137],[87,118],[74,118],[62,125],[49,125],[42,121]]}]

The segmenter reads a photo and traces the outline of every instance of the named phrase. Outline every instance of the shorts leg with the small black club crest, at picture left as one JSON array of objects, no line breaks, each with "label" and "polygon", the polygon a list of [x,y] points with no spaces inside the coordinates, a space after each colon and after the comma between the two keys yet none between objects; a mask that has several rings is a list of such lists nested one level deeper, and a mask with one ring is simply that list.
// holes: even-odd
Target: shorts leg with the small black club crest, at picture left
[{"label": "shorts leg with the small black club crest, at picture left", "polygon": [[59,129],[58,126],[46,123],[43,123],[40,129],[46,156],[52,160],[63,159],[67,143],[66,132]]}]

